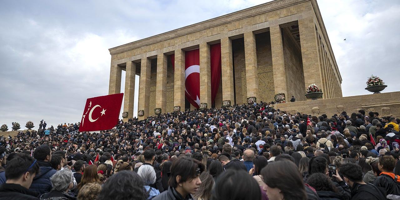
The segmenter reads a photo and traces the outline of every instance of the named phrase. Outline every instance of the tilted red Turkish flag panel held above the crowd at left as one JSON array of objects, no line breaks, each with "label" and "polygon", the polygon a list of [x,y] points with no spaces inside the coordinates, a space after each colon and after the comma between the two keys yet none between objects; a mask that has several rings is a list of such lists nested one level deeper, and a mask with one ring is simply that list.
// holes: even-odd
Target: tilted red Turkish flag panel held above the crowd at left
[{"label": "tilted red Turkish flag panel held above the crowd at left", "polygon": [[113,128],[118,123],[124,93],[88,98],[79,131],[98,131]]}]

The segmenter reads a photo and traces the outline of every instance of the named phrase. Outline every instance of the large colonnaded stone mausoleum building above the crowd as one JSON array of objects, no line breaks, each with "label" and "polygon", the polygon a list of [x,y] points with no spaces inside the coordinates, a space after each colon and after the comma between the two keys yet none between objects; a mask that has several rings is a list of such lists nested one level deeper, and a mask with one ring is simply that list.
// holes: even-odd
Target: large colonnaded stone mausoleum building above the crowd
[{"label": "large colonnaded stone mausoleum building above the crowd", "polygon": [[[220,45],[218,90],[212,99],[210,46]],[[185,97],[185,53],[199,51],[200,104],[274,101],[284,93],[305,101],[315,83],[322,99],[342,97],[342,78],[316,0],[275,0],[176,30],[110,48],[109,94],[121,90],[124,112],[133,116],[135,75],[140,76],[138,116],[194,109]],[[187,74],[186,74],[187,76]],[[196,99],[195,99],[196,100]]]}]

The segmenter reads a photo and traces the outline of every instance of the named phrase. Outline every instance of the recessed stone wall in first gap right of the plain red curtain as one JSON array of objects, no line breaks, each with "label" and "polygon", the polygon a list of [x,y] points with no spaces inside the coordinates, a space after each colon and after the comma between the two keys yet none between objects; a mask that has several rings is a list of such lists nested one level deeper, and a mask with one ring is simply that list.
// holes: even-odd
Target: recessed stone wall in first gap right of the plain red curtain
[{"label": "recessed stone wall in first gap right of the plain red curtain", "polygon": [[[232,40],[233,66],[235,76],[236,104],[247,102],[246,65],[244,63],[244,39]],[[224,72],[222,72],[224,73]],[[232,102],[233,104],[233,102]]]}]

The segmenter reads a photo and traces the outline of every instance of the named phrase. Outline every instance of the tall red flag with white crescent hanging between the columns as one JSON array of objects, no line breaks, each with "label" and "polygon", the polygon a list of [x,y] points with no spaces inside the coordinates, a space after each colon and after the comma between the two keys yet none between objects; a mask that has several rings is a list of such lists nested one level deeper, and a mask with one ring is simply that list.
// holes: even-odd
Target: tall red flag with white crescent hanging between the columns
[{"label": "tall red flag with white crescent hanging between the columns", "polygon": [[200,107],[200,51],[185,52],[185,96],[194,107]]}]

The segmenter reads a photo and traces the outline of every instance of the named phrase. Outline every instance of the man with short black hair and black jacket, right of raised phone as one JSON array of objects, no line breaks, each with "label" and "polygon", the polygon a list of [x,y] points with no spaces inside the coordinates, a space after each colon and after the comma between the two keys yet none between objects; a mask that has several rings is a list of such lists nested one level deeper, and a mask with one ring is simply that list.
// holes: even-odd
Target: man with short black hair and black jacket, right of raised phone
[{"label": "man with short black hair and black jacket, right of raised phone", "polygon": [[344,181],[351,187],[352,200],[385,200],[385,191],[362,180],[362,169],[358,164],[346,163],[340,166]]}]

